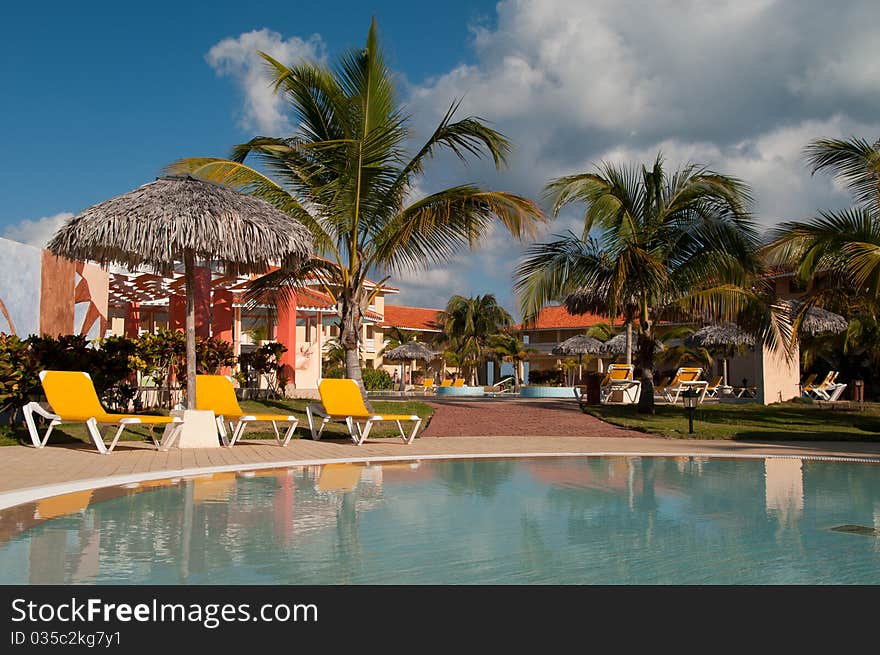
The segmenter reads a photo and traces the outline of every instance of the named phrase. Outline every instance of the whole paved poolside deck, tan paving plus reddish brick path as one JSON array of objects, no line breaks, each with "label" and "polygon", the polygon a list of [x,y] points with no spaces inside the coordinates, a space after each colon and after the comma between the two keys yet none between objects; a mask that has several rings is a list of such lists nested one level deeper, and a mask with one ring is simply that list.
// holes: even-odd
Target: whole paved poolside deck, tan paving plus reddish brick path
[{"label": "whole paved poolside deck, tan paving plus reddish brick path", "polygon": [[[423,435],[407,446],[400,439],[370,439],[363,446],[350,440],[298,439],[287,448],[273,441],[243,441],[235,447],[156,452],[147,444],[121,442],[111,455],[86,445],[0,448],[0,507],[20,494],[45,485],[119,484],[144,477],[169,477],[198,469],[226,470],[277,464],[291,466],[316,460],[435,458],[454,455],[517,454],[667,454],[715,456],[831,456],[880,458],[878,443],[699,441],[661,439],[617,428],[556,403],[437,403],[437,413]],[[442,436],[441,436],[442,435]],[[98,486],[98,483],[92,486]],[[61,493],[54,487],[53,493]],[[26,494],[33,497],[36,492]],[[48,495],[43,493],[42,495]],[[19,500],[18,502],[23,502]]]}]

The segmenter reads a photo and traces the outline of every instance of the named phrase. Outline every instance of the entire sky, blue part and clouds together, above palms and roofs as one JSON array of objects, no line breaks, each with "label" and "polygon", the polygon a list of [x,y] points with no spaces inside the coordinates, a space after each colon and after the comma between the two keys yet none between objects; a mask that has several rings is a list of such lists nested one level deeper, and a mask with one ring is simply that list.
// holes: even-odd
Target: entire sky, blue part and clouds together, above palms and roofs
[{"label": "entire sky, blue part and clouds together, above palms and roofs", "polygon": [[[463,98],[460,115],[514,143],[506,171],[438,160],[422,191],[476,182],[538,198],[553,177],[662,151],[670,168],[745,180],[769,228],[850,203],[810,176],[809,141],[880,137],[876,0],[15,3],[0,27],[0,236],[44,242],[175,159],[284,135],[255,50],[333,60],[374,15],[416,130]],[[541,238],[579,220],[572,208]],[[521,252],[496,231],[476,253],[396,278],[397,301],[495,293],[515,310]]]}]

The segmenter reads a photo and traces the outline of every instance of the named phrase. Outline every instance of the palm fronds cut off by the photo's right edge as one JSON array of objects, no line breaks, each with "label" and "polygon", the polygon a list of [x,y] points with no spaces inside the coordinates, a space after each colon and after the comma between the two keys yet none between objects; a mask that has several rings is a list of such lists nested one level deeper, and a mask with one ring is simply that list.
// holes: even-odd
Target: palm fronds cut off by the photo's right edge
[{"label": "palm fronds cut off by the photo's right edge", "polygon": [[818,139],[804,149],[812,173],[830,172],[853,193],[855,206],[820,211],[807,221],[780,224],[769,252],[813,281],[795,323],[811,305],[839,300],[841,292],[880,300],[880,139],[873,144]]}]

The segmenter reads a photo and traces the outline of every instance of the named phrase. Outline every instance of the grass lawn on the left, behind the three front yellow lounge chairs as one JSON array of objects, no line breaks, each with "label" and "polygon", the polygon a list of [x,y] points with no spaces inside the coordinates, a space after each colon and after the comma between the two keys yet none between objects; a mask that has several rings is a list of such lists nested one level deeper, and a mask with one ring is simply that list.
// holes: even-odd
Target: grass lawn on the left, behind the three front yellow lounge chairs
[{"label": "grass lawn on the left, behind the three front yellow lounge chairs", "polygon": [[[293,413],[299,417],[299,425],[294,433],[294,439],[309,439],[309,422],[306,419],[306,405],[309,400],[245,400],[241,402],[241,408],[245,412],[253,412],[255,414],[282,414]],[[433,410],[423,402],[415,400],[407,401],[373,401],[373,409],[381,414],[417,414],[425,421],[422,423],[422,429],[427,427],[431,420]],[[168,412],[162,412],[167,414]],[[0,426],[2,430],[5,426]],[[284,432],[284,427],[279,426]],[[404,429],[406,426],[404,425]],[[421,430],[419,430],[421,433]],[[157,438],[161,434],[161,428],[156,430]],[[398,437],[397,426],[394,423],[378,423],[370,431],[370,439],[374,437]],[[272,439],[274,442],[275,434],[272,432],[272,426],[268,423],[257,423],[254,427],[248,427],[244,434],[245,439]],[[348,429],[343,423],[328,423],[324,429],[322,439],[349,439]],[[71,425],[61,425],[52,431],[49,438],[49,445],[57,443],[72,443],[75,441],[83,441],[91,444],[86,434],[85,425],[75,423]],[[122,433],[120,441],[149,441],[149,432],[146,428],[132,427],[127,428]],[[30,437],[24,426],[16,426],[7,431],[0,431],[0,446],[15,446],[19,443],[30,444]]]}]

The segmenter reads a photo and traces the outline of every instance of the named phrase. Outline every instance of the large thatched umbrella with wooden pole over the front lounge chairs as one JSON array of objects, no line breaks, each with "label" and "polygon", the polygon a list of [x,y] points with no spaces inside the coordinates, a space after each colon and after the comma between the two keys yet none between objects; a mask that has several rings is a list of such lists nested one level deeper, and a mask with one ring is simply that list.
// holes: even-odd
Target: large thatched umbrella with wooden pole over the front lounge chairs
[{"label": "large thatched umbrella with wooden pole over the front lounge chairs", "polygon": [[70,259],[148,267],[164,275],[183,262],[186,397],[196,406],[195,263],[228,274],[262,273],[271,262],[311,256],[301,223],[269,203],[190,176],[168,176],[89,207],[62,226],[49,250]]}]

